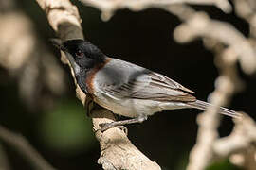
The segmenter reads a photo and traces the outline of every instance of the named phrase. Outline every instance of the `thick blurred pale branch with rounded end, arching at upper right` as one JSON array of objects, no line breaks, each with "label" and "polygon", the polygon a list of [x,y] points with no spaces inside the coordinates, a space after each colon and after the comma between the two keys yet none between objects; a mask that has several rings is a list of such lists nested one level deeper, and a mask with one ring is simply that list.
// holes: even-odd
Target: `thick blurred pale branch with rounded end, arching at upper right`
[{"label": "thick blurred pale branch with rounded end, arching at upper right", "polygon": [[228,23],[210,19],[206,13],[195,12],[187,21],[177,26],[174,38],[177,42],[190,42],[195,38],[210,38],[211,40],[229,45],[235,57],[241,63],[247,74],[256,71],[256,58],[254,47],[247,38]]}]

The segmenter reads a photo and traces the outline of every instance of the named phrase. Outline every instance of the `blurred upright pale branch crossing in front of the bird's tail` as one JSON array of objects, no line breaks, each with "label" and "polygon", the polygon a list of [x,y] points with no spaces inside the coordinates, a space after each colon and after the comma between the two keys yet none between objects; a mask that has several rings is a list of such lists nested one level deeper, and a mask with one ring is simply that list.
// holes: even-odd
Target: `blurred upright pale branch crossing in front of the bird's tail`
[{"label": "blurred upright pale branch crossing in front of the bird's tail", "polygon": [[[233,93],[241,89],[239,88],[241,83],[236,83],[239,80],[235,75],[235,62],[232,59],[225,58],[228,54],[226,52],[217,56],[216,64],[220,76],[215,80],[214,92],[210,94],[210,102],[216,107],[227,105]],[[199,126],[197,140],[190,154],[188,170],[203,170],[212,161],[214,156],[213,144],[218,139],[217,128],[220,124],[220,115],[217,114],[216,109],[209,108],[203,114],[198,115],[197,122]]]}]

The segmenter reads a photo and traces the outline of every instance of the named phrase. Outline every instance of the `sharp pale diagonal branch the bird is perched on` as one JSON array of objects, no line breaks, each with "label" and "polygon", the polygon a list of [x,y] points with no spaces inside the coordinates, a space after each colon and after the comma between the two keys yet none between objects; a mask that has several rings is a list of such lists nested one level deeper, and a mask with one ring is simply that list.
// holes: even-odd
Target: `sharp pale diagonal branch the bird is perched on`
[{"label": "sharp pale diagonal branch the bird is perched on", "polygon": [[[62,40],[83,38],[78,9],[68,0],[37,0],[37,2],[46,11],[50,26]],[[64,54],[62,56],[64,62],[68,62]],[[84,104],[85,94],[77,85],[72,69],[71,72],[77,87],[77,96]],[[115,119],[109,110],[100,108],[92,111],[92,120],[94,128],[99,129],[99,124]],[[119,128],[111,128],[104,133],[98,131],[96,137],[101,144],[101,158],[98,162],[104,169],[160,169],[157,163],[144,156]]]}]

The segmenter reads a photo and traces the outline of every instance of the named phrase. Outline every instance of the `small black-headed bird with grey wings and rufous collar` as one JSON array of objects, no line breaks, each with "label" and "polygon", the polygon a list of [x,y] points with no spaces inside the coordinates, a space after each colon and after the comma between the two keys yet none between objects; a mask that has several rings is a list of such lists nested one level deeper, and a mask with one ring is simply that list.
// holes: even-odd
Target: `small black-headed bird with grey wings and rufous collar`
[{"label": "small black-headed bird with grey wings and rufous collar", "polygon": [[[69,60],[82,92],[113,113],[128,117],[101,125],[101,131],[126,124],[142,123],[162,110],[214,107],[196,99],[192,90],[173,79],[128,61],[110,58],[93,43],[73,39],[51,39]],[[241,114],[224,107],[218,113],[233,118]]]}]

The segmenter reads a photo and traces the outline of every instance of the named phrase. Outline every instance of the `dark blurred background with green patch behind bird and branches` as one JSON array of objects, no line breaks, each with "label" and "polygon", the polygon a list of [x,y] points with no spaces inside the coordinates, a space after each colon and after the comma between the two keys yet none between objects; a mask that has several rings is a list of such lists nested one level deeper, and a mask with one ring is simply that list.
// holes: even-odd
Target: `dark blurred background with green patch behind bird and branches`
[{"label": "dark blurred background with green patch behind bird and branches", "polygon": [[[17,1],[19,8],[33,21],[38,39],[46,43],[56,58],[60,53],[48,42],[56,37],[46,21],[45,13],[35,1]],[[200,39],[187,44],[174,42],[173,31],[180,21],[172,14],[149,8],[141,12],[119,10],[108,22],[101,21],[101,12],[96,8],[79,7],[85,38],[101,48],[108,56],[128,60],[137,65],[169,76],[185,87],[196,92],[196,97],[207,100],[214,90],[218,76],[213,63],[213,54]],[[218,8],[193,6],[207,11],[211,18],[226,21],[245,36],[248,25],[234,13],[225,14]],[[44,58],[44,56],[42,56]],[[59,61],[60,64],[61,61]],[[0,69],[0,123],[27,140],[58,169],[101,169],[97,164],[100,157],[99,144],[91,131],[91,122],[85,116],[82,104],[75,96],[75,86],[66,65],[65,83],[68,91],[54,100],[50,108],[28,110],[17,94],[15,80],[5,69]],[[246,111],[254,117],[254,76],[246,76],[246,89],[237,93],[229,108]],[[127,126],[129,139],[152,161],[163,169],[185,169],[189,153],[195,144],[196,116],[200,110],[165,110],[156,113],[140,125]],[[224,117],[219,127],[220,135],[229,135],[232,121]],[[3,143],[4,144],[4,143]],[[4,144],[13,169],[31,169],[20,154]],[[211,169],[237,169],[228,160],[215,162]]]}]

